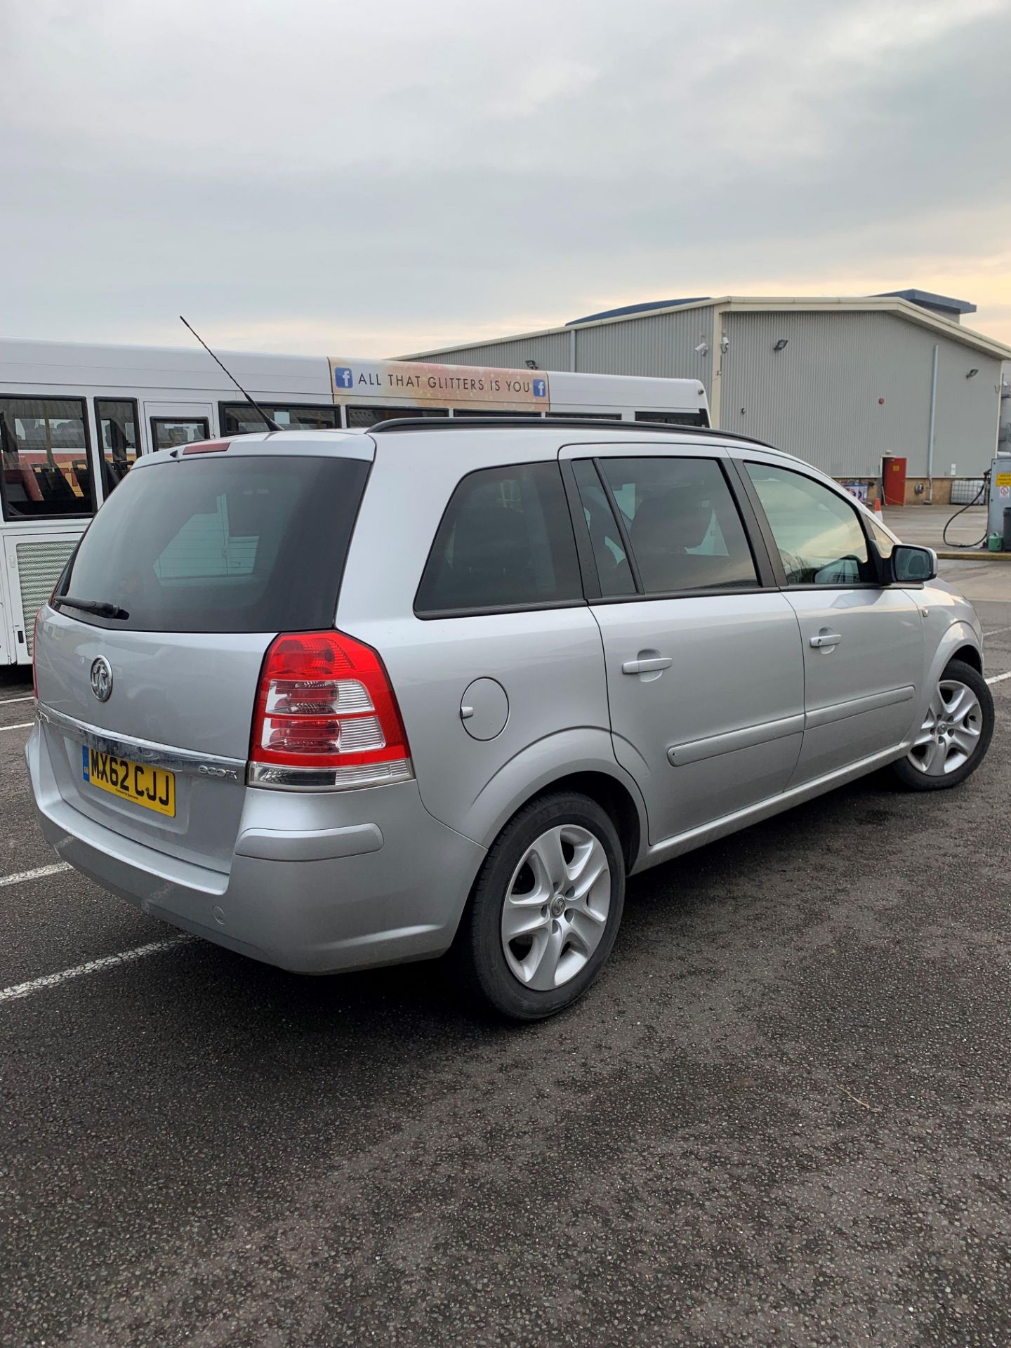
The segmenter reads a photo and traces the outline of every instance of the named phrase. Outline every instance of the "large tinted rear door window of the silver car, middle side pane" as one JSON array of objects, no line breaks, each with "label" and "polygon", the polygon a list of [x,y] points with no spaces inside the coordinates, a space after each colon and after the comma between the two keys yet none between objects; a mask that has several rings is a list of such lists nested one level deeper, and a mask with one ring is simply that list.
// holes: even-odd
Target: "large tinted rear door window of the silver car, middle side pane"
[{"label": "large tinted rear door window of the silver car, middle side pane", "polygon": [[647,594],[755,585],[737,507],[713,458],[601,458]]}]

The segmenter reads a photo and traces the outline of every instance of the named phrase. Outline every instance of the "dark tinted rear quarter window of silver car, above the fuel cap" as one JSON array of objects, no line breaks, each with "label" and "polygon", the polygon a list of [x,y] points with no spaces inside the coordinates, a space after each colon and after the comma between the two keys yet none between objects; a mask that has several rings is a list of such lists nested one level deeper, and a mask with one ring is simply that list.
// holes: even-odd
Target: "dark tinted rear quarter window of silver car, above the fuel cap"
[{"label": "dark tinted rear quarter window of silver car, above the fuel cap", "polygon": [[511,464],[458,483],[431,545],[417,613],[582,604],[557,462]]}]

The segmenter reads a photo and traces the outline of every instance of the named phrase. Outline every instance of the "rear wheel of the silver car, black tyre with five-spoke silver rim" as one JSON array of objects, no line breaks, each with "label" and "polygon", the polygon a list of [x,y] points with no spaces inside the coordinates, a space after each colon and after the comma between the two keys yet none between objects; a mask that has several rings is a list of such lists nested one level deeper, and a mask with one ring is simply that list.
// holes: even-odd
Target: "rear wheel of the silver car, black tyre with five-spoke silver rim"
[{"label": "rear wheel of the silver car, black tyre with five-spoke silver rim", "polygon": [[511,1020],[570,1006],[611,953],[624,892],[621,844],[596,801],[531,801],[488,852],[457,938],[470,991]]}]

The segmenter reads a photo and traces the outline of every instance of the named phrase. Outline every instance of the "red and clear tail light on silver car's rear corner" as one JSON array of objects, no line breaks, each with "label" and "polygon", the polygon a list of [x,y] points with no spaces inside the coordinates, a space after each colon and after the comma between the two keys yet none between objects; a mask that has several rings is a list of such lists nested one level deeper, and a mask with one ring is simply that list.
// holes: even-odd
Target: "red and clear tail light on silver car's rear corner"
[{"label": "red and clear tail light on silver car's rear corner", "polygon": [[342,632],[279,636],[263,661],[249,782],[353,787],[414,775],[381,659]]}]

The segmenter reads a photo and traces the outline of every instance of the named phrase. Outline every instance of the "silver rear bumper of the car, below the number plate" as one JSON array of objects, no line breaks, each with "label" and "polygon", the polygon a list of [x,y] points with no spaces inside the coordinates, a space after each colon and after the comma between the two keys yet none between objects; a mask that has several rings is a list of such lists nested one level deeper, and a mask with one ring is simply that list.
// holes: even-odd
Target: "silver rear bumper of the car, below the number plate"
[{"label": "silver rear bumper of the car, below the number plate", "polygon": [[402,782],[341,793],[249,789],[231,867],[210,869],[67,805],[38,727],[26,758],[42,832],[62,860],[152,917],[299,973],[441,954],[484,859],[427,813],[415,782]]}]

